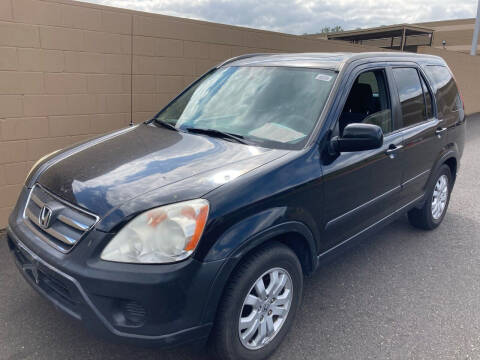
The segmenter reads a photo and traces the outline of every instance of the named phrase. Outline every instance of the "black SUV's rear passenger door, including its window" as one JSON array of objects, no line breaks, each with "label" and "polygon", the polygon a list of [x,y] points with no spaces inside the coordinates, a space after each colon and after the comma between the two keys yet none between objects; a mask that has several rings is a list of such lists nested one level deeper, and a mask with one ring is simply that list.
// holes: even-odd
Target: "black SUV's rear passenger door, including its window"
[{"label": "black SUV's rear passenger door, including its window", "polygon": [[391,71],[401,111],[404,205],[425,192],[432,167],[446,141],[446,128],[436,116],[432,89],[420,69],[416,65],[402,65]]}]

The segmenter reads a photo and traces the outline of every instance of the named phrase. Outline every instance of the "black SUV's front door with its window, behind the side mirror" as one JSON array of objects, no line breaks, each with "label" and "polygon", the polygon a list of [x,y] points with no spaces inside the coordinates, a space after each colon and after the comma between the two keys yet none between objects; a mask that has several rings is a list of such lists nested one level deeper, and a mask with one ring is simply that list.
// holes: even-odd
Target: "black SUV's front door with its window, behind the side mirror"
[{"label": "black SUV's front door with its window, behind the side mirror", "polygon": [[351,123],[375,124],[384,132],[384,144],[324,161],[327,247],[348,240],[394,211],[401,193],[403,137],[394,126],[386,69],[359,70],[351,80],[333,134],[341,136]]}]

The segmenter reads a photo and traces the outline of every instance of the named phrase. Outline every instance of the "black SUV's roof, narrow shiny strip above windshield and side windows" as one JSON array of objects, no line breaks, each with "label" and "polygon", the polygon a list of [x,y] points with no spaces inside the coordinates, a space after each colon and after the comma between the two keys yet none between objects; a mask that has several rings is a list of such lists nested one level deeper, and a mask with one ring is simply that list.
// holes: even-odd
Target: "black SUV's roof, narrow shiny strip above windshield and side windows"
[{"label": "black SUV's roof, narrow shiny strip above windshield and side windows", "polygon": [[247,54],[225,61],[221,66],[289,66],[340,70],[346,63],[372,59],[376,61],[413,61],[422,64],[441,64],[439,56],[405,52],[362,52],[362,53],[282,53]]}]

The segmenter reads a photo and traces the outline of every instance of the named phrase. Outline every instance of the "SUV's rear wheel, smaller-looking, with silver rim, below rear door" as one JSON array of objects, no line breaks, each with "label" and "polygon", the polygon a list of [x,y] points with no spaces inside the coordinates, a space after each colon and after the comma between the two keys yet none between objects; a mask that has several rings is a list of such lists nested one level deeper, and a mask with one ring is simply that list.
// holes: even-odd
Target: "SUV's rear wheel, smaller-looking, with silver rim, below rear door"
[{"label": "SUV's rear wheel, smaller-looking, with silver rim, below rear door", "polygon": [[438,169],[435,181],[425,194],[423,207],[408,212],[410,224],[423,230],[433,230],[440,225],[447,213],[452,188],[452,172],[444,164]]}]

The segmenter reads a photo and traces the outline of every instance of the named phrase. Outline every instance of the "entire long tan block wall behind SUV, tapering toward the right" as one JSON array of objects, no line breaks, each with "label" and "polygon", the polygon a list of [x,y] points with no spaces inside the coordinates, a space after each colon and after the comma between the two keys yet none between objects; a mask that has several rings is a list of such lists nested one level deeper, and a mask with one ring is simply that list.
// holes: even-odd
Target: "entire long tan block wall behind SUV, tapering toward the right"
[{"label": "entire long tan block wall behind SUV, tapering toward the right", "polygon": [[222,60],[365,50],[71,0],[0,0],[0,229],[38,158],[148,119]]}]

